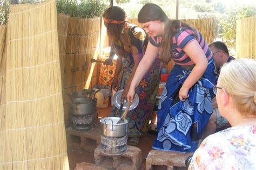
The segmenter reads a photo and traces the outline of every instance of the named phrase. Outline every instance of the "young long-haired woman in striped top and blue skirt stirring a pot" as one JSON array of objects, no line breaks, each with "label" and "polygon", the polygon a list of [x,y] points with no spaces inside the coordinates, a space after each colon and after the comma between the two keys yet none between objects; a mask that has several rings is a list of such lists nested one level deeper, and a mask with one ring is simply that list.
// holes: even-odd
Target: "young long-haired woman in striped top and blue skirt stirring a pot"
[{"label": "young long-haired woman in striped top and blue skirt stirring a pot", "polygon": [[149,44],[127,94],[132,101],[140,80],[158,52],[161,61],[175,65],[158,105],[156,150],[194,152],[212,114],[212,87],[216,69],[212,53],[201,34],[179,20],[170,20],[156,4],[146,4],[138,21],[149,34]]}]

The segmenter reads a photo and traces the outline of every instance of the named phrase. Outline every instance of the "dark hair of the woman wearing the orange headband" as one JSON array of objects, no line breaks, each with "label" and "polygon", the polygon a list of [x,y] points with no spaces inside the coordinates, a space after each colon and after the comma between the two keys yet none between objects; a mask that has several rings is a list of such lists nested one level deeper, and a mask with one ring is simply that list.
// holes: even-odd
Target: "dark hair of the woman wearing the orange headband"
[{"label": "dark hair of the woman wearing the orange headband", "polygon": [[[110,20],[122,21],[126,19],[125,11],[119,6],[111,6],[106,9],[103,17]],[[122,30],[124,29],[124,22],[120,24],[116,23],[105,23],[107,29],[107,36],[114,41],[118,41],[120,39],[120,35]]]}]

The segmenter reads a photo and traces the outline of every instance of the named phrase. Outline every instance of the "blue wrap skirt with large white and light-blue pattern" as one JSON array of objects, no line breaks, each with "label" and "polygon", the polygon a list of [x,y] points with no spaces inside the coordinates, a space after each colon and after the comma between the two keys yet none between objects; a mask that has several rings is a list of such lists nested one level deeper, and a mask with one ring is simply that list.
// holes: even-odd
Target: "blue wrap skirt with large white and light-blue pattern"
[{"label": "blue wrap skirt with large white and light-blue pattern", "polygon": [[174,65],[158,105],[156,150],[194,152],[197,141],[212,114],[212,87],[217,76],[214,60],[208,61],[204,75],[188,91],[185,102],[179,100],[179,90],[191,73],[180,65]]}]

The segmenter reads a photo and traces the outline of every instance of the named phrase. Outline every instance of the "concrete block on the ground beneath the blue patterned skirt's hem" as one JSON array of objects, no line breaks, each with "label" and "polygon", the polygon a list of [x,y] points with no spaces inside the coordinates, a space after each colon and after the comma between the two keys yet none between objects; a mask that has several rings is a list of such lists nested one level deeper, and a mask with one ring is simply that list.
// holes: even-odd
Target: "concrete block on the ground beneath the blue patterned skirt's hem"
[{"label": "concrete block on the ground beneath the blue patterned skirt's hem", "polygon": [[193,155],[193,153],[151,150],[147,155],[146,169],[152,169],[152,166],[166,166],[167,169],[185,167],[185,160],[190,155]]}]

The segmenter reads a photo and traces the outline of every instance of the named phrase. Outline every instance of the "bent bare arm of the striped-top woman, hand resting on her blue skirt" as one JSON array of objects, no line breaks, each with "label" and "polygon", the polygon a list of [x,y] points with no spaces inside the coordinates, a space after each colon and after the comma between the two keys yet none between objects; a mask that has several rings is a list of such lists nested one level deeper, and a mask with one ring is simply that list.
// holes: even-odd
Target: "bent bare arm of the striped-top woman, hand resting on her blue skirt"
[{"label": "bent bare arm of the striped-top woman, hand resting on her blue skirt", "polygon": [[208,60],[205,56],[203,49],[199,46],[197,40],[192,40],[184,48],[183,51],[195,63],[190,75],[187,77],[183,86],[179,90],[179,99],[185,101],[188,97],[188,90],[203,76]]}]

